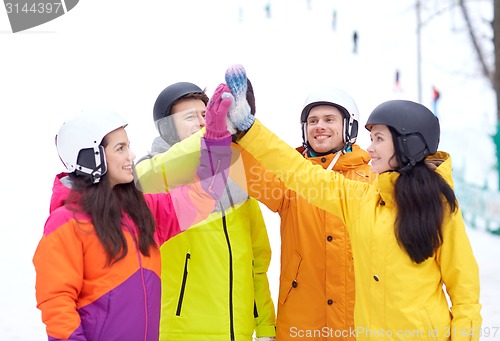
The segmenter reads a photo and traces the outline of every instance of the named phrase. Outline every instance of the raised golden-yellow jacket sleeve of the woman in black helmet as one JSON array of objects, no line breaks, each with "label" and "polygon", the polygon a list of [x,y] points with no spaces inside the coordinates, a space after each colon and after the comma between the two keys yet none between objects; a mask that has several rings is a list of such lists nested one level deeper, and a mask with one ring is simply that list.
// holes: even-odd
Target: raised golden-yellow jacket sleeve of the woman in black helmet
[{"label": "raised golden-yellow jacket sleeve of the woman in black helmet", "polygon": [[[312,205],[338,216],[344,224],[359,216],[358,202],[365,198],[369,184],[313,165],[258,119],[238,144],[281,179],[287,189],[297,192]],[[251,173],[247,164],[245,170]]]}]

